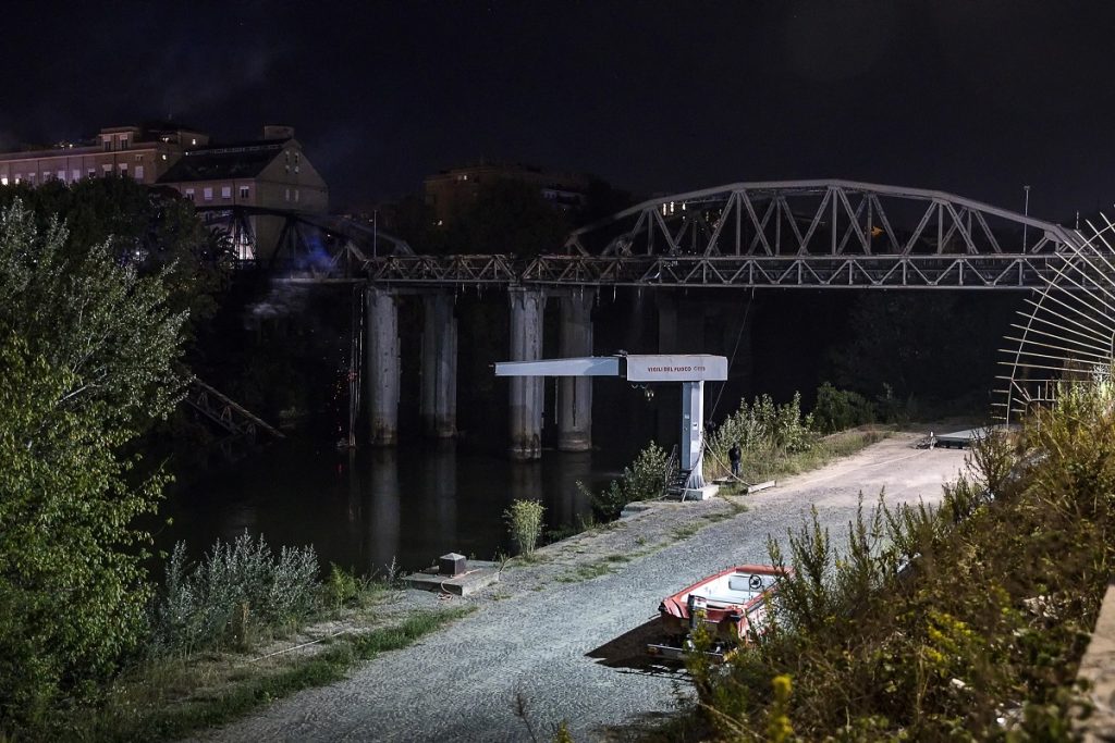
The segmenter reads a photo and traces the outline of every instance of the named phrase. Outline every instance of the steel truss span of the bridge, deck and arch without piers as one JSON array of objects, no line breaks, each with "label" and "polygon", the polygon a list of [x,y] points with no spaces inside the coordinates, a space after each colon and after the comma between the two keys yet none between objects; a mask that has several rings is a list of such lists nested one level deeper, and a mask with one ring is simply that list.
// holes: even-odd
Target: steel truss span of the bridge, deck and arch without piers
[{"label": "steel truss span of the bridge, deck and arch without piers", "polygon": [[644,202],[534,258],[369,257],[355,241],[306,281],[389,286],[1044,287],[1074,231],[939,190],[738,183]]}]

